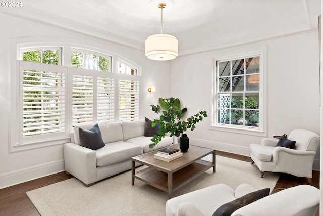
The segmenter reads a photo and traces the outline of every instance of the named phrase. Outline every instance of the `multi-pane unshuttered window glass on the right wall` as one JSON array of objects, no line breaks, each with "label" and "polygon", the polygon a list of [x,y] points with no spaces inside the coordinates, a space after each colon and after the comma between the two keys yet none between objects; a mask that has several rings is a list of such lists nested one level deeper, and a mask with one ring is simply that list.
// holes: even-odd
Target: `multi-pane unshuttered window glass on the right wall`
[{"label": "multi-pane unshuttered window glass on the right wall", "polygon": [[260,57],[216,62],[217,125],[259,129]]}]

